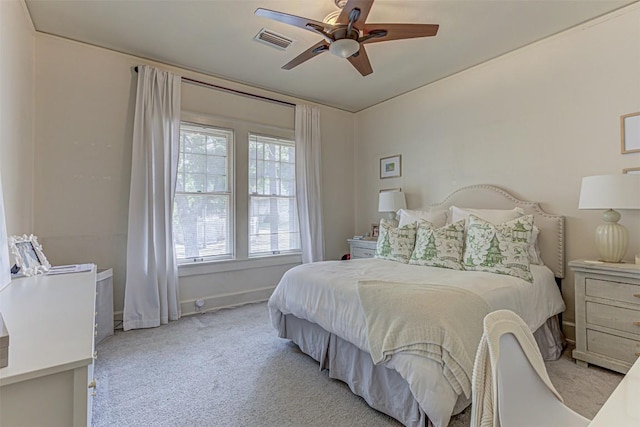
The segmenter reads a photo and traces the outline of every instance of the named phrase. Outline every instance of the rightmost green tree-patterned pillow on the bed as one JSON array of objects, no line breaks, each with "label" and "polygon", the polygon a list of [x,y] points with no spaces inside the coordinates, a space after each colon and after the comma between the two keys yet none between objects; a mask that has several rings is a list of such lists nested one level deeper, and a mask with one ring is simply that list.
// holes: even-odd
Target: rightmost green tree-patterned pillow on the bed
[{"label": "rightmost green tree-patterned pillow on the bed", "polygon": [[508,274],[533,281],[529,268],[529,245],[533,215],[525,215],[494,225],[475,215],[469,216],[465,240],[465,270]]}]

